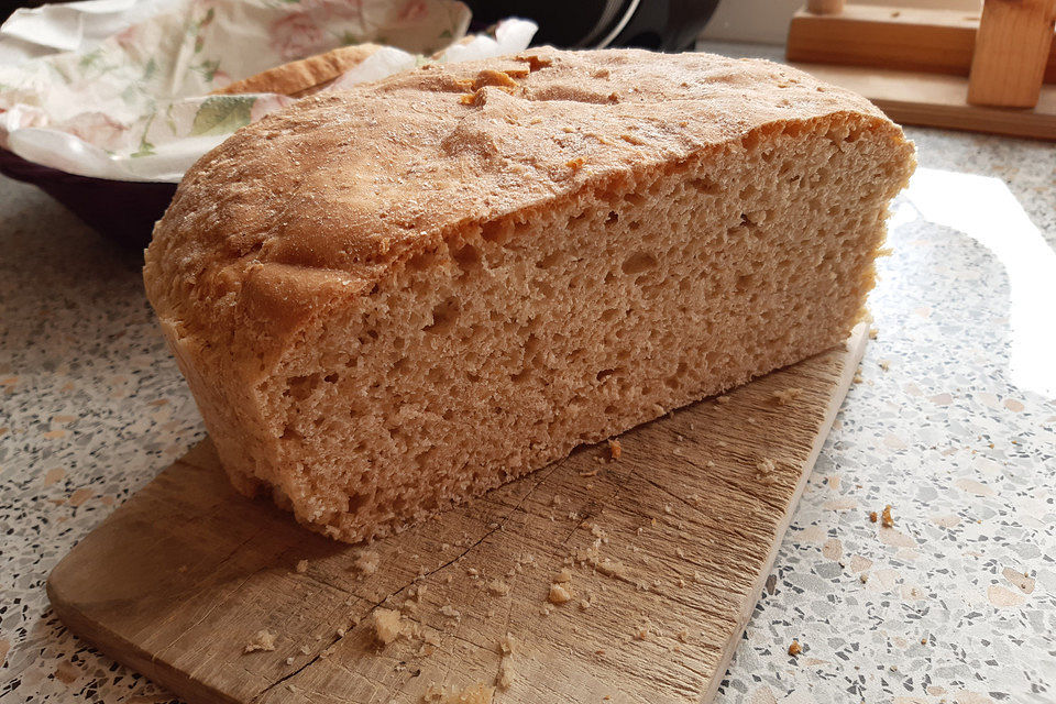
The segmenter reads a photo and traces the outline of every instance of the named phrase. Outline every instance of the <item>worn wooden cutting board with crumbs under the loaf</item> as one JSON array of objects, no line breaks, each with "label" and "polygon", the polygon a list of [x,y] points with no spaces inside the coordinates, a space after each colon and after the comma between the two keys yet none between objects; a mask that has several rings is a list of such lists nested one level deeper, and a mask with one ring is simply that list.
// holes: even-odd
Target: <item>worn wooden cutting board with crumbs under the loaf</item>
[{"label": "worn wooden cutting board with crumbs under the loaf", "polygon": [[[501,668],[496,702],[707,702],[865,341],[859,327],[624,435],[618,461],[582,448],[366,550],[235,494],[207,440],[81,540],[48,595],[188,702],[440,701],[486,694]],[[572,598],[553,605],[562,569]],[[384,647],[382,608],[403,614]],[[244,652],[261,630],[274,650]]]}]

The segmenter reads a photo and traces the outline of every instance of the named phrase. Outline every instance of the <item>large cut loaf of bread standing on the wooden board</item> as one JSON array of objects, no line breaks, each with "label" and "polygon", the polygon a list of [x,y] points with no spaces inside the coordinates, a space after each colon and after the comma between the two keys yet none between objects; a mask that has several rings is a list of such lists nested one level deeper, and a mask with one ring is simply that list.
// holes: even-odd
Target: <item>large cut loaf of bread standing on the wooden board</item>
[{"label": "large cut loaf of bread standing on the wooden board", "polygon": [[234,485],[359,541],[842,342],[913,165],[791,68],[536,50],[240,130],[144,276]]}]

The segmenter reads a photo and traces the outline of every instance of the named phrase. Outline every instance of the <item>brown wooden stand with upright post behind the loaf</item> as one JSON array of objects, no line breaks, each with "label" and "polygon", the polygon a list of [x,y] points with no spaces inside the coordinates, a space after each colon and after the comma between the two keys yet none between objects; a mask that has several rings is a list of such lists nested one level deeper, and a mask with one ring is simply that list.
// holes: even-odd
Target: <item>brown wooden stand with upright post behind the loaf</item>
[{"label": "brown wooden stand with upright post behind the loaf", "polygon": [[899,122],[1056,140],[1056,0],[955,10],[811,0],[789,62],[860,92]]}]

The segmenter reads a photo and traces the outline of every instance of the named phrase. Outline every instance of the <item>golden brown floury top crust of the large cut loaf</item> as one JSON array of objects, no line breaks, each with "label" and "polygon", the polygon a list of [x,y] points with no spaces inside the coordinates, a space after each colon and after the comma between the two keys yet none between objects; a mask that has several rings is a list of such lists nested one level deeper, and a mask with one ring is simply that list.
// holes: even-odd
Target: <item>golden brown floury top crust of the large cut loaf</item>
[{"label": "golden brown floury top crust of the large cut loaf", "polygon": [[763,61],[539,48],[424,66],[307,98],[204,156],[154,231],[147,294],[182,337],[244,338],[233,351],[266,362],[460,226],[836,113],[903,139],[865,98]]}]

